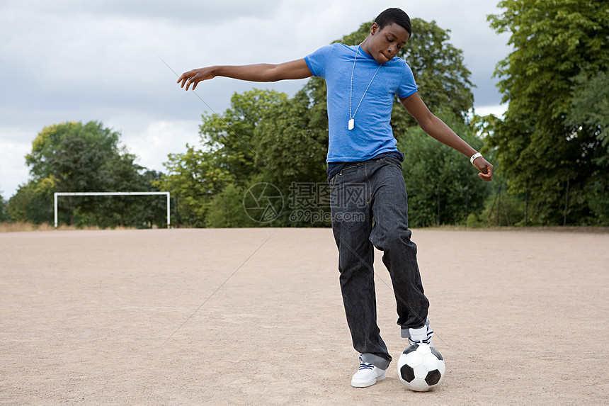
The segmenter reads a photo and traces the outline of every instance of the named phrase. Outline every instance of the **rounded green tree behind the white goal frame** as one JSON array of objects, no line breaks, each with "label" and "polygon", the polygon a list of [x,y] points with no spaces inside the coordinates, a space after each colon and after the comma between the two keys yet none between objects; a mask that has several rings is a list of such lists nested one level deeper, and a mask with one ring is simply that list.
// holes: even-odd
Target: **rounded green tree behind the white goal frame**
[{"label": "rounded green tree behind the white goal frame", "polygon": [[[120,133],[102,123],[62,123],[42,129],[25,157],[30,167],[28,184],[9,201],[13,220],[52,222],[53,192],[151,191],[151,181],[135,164],[135,155],[119,145]],[[75,225],[139,227],[144,207],[142,198],[64,196],[59,205],[59,222]],[[159,210],[155,221],[164,223]],[[162,219],[162,220],[161,220]],[[150,222],[150,216],[145,222]]]}]

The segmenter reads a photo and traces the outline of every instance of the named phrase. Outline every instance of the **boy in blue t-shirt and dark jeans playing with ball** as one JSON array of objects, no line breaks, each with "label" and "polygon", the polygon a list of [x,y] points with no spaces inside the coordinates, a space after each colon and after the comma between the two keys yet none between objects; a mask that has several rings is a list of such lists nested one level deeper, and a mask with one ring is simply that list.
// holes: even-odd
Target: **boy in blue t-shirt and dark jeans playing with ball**
[{"label": "boy in blue t-shirt and dark jeans playing with ball", "polygon": [[[402,161],[389,125],[394,97],[421,128],[462,152],[491,181],[493,166],[467,145],[421,101],[411,69],[396,57],[411,35],[409,17],[400,9],[380,13],[359,46],[321,47],[301,60],[283,64],[215,66],[193,69],[178,79],[186,90],[216,76],[248,81],[326,80],[329,118],[328,181],[332,230],[338,246],[341,293],[360,367],[351,379],[358,388],[385,379],[392,357],[377,326],[374,247],[392,278],[398,325],[409,344],[431,344],[428,300],[423,293],[416,245],[408,229]],[[363,200],[355,201],[357,188]]]}]

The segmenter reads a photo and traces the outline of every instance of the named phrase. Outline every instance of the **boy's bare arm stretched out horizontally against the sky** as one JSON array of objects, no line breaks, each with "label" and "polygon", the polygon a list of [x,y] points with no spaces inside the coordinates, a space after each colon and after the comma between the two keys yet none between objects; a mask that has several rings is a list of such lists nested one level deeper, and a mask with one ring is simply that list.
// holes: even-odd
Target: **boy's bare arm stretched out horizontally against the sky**
[{"label": "boy's bare arm stretched out horizontally against the sky", "polygon": [[200,81],[213,79],[217,76],[230,77],[247,81],[278,81],[283,79],[305,79],[312,77],[311,71],[304,59],[283,64],[252,64],[241,66],[212,66],[193,69],[184,72],[177,83],[180,87],[186,85],[186,90],[193,86],[193,90]]}]

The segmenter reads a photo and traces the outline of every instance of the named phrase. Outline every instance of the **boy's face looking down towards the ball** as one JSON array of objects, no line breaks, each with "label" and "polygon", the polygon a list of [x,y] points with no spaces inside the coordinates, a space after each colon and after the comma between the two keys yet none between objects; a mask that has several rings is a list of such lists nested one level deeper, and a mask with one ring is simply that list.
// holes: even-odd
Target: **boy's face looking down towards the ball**
[{"label": "boy's face looking down towards the ball", "polygon": [[404,27],[392,23],[380,29],[377,23],[372,23],[370,35],[363,49],[378,63],[389,62],[406,45],[410,34]]}]

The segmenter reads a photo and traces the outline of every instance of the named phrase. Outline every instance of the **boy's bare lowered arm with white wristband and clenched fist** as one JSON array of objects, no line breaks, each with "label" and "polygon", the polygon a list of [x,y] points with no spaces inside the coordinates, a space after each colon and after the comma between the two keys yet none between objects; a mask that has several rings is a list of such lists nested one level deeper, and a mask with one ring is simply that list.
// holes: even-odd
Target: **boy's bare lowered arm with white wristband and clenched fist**
[{"label": "boy's bare lowered arm with white wristband and clenched fist", "polygon": [[[470,147],[469,144],[455,134],[453,130],[450,130],[448,125],[429,111],[418,93],[412,94],[406,98],[400,98],[399,101],[402,102],[402,106],[406,108],[416,122],[419,123],[423,131],[427,132],[428,135],[431,135],[431,137],[448,145],[454,150],[461,152],[468,158],[477,153],[474,148]],[[478,174],[480,179],[483,181],[491,181],[491,179],[493,179],[493,165],[486,161],[484,157],[474,159],[473,164],[474,167],[480,171]]]}]

